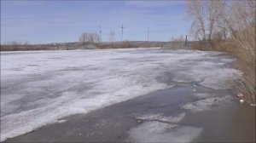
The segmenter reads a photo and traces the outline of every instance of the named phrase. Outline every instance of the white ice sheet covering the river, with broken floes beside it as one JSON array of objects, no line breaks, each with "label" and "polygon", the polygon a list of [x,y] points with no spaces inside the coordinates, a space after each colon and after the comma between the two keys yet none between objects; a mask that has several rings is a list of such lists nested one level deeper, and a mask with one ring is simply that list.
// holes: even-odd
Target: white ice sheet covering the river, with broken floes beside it
[{"label": "white ice sheet covering the river, with broken floes beside it", "polygon": [[[2,52],[1,141],[50,123],[65,122],[60,120],[62,117],[89,113],[176,85],[188,85],[194,90],[198,87],[229,89],[230,81],[241,75],[226,66],[232,61],[234,59],[218,52],[158,48]],[[210,93],[197,93],[195,97],[198,100],[184,101],[178,106],[201,112],[232,98],[231,94],[215,96]],[[171,118],[156,114],[138,118],[177,123],[184,116],[184,113]],[[154,133],[137,136],[137,132],[148,126],[152,129],[176,127],[166,123],[143,123],[131,129],[131,140],[148,141],[145,135]],[[189,129],[194,131],[184,131]],[[183,131],[191,134],[185,141],[201,133],[201,129],[195,127],[179,130]],[[167,133],[157,134],[168,140],[163,136]],[[171,136],[179,141],[175,134]]]}]

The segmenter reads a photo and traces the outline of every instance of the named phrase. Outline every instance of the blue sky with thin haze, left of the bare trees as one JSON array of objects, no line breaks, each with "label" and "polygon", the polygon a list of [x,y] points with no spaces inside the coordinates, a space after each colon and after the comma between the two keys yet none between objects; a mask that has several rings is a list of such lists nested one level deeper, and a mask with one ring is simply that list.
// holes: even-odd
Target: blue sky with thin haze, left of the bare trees
[{"label": "blue sky with thin haze, left of the bare trees", "polygon": [[108,41],[168,41],[188,34],[185,1],[3,1],[1,0],[1,43],[76,42],[82,32],[98,32]]}]

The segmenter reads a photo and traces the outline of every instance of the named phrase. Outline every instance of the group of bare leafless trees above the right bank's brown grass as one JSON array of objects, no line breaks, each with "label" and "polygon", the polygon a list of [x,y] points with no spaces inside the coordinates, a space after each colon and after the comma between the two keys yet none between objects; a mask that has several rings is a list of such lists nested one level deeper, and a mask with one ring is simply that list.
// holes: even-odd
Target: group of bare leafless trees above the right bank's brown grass
[{"label": "group of bare leafless trees above the right bank's brown grass", "polygon": [[194,0],[187,2],[195,40],[213,43],[232,40],[255,59],[255,1]]}]

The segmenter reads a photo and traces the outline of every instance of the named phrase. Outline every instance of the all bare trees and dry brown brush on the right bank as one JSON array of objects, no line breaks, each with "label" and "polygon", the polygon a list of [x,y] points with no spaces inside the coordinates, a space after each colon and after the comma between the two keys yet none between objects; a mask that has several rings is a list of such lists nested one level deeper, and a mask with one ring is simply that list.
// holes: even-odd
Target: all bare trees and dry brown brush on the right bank
[{"label": "all bare trees and dry brown brush on the right bank", "polygon": [[255,1],[189,1],[193,49],[223,51],[236,57],[234,67],[243,72],[234,85],[248,103],[256,103]]}]

